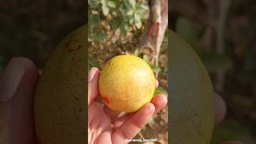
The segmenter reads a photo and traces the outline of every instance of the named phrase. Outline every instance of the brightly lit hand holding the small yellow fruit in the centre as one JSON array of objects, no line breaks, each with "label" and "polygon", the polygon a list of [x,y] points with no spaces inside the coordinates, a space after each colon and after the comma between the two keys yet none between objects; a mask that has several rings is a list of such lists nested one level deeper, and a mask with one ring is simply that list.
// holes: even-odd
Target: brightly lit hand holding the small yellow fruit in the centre
[{"label": "brightly lit hand holding the small yellow fruit in the centre", "polygon": [[167,98],[159,94],[137,112],[115,112],[97,102],[99,74],[98,68],[92,68],[88,76],[88,143],[128,143],[128,139],[134,138],[150,118],[166,106]]}]

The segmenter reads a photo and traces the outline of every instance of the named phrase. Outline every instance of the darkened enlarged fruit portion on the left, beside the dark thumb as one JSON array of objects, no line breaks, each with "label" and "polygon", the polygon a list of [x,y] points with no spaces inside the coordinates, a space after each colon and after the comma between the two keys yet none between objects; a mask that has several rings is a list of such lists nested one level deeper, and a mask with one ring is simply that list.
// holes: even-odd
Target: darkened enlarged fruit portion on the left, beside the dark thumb
[{"label": "darkened enlarged fruit portion on the left, beside the dark thumb", "polygon": [[86,143],[86,30],[64,38],[42,71],[34,98],[40,144]]}]

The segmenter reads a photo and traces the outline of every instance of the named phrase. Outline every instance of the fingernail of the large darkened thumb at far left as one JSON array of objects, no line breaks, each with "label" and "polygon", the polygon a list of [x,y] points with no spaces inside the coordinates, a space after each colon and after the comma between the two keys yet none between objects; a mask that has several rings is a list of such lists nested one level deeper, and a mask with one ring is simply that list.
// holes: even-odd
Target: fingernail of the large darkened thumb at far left
[{"label": "fingernail of the large darkened thumb at far left", "polygon": [[26,58],[12,58],[0,80],[0,102],[8,102],[15,94],[23,75],[32,63]]}]

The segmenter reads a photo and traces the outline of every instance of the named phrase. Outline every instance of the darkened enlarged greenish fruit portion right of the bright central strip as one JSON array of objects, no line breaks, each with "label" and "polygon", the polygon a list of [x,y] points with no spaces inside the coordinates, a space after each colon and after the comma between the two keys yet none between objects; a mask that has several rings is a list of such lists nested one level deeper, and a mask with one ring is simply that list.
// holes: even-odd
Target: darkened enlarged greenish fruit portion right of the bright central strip
[{"label": "darkened enlarged greenish fruit portion right of the bright central strip", "polygon": [[214,90],[194,50],[168,30],[170,143],[210,144],[214,128]]}]

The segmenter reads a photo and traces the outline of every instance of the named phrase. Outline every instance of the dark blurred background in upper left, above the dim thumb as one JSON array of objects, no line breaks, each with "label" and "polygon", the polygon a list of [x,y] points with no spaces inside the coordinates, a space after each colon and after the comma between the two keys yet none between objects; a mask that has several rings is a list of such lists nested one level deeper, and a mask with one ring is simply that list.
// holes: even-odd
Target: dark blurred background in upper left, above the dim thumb
[{"label": "dark blurred background in upper left, above the dim thumb", "polygon": [[84,1],[0,1],[0,75],[10,58],[25,56],[42,68],[50,53],[85,23]]}]

